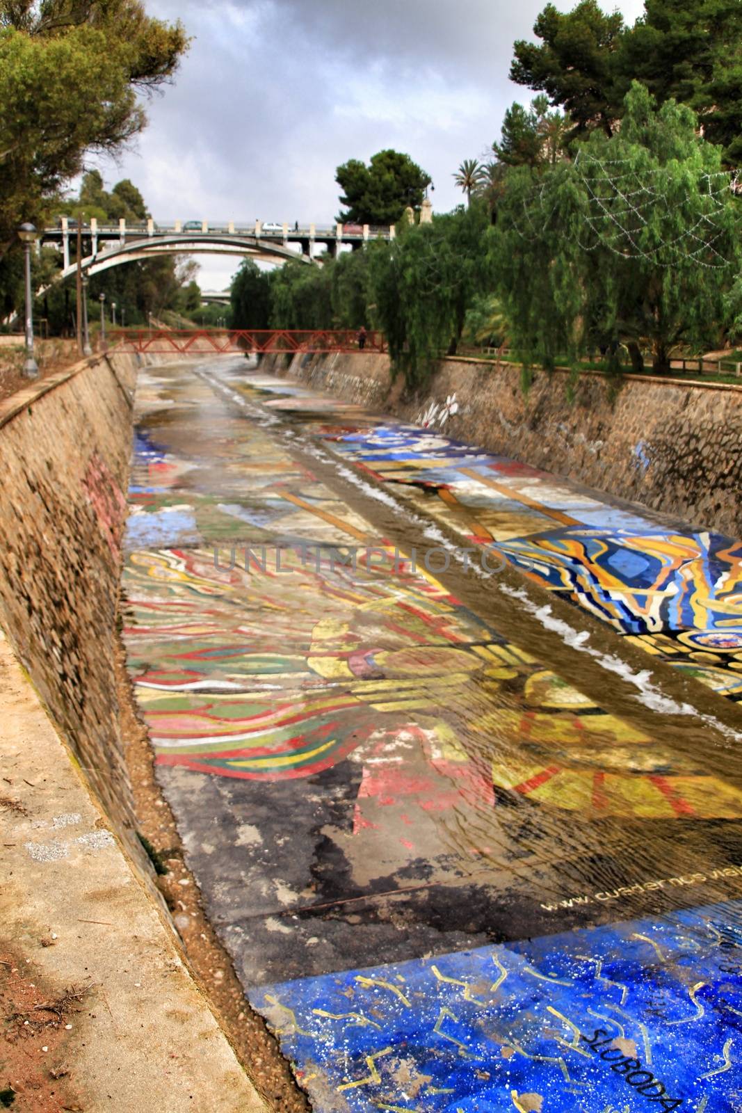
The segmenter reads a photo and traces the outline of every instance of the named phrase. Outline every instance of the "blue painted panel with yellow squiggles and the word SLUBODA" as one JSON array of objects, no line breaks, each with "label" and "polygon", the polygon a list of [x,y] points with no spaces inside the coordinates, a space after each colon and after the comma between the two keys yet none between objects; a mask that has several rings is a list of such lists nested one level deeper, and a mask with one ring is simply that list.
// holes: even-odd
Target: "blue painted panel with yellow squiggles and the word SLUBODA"
[{"label": "blue painted panel with yellow squiggles and the word SLUBODA", "polygon": [[316,1113],[742,1109],[742,902],[250,999]]}]

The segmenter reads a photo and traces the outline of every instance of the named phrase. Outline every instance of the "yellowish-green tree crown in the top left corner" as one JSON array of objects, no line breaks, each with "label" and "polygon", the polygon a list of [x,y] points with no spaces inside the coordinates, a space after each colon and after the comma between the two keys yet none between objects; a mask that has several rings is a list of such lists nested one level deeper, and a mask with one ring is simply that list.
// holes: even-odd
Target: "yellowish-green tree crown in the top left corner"
[{"label": "yellowish-green tree crown in the top left corner", "polygon": [[0,0],[0,256],[86,154],[141,130],[137,91],[167,81],[186,48],[180,23],[139,0]]}]

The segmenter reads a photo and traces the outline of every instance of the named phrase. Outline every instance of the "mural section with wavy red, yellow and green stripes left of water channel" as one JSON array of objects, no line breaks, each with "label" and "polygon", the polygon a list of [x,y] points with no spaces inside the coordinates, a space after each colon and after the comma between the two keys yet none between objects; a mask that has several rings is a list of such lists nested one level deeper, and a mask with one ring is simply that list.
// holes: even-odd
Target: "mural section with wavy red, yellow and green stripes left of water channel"
[{"label": "mural section with wavy red, yellow and green stripes left of water channel", "polygon": [[129,556],[129,668],[159,764],[303,777],[379,727],[421,728],[467,766],[496,739],[492,784],[558,808],[742,815],[741,794],[603,712],[432,577],[392,562],[353,570],[340,551],[323,565],[283,549],[278,570],[250,555],[230,570],[214,550]]}]

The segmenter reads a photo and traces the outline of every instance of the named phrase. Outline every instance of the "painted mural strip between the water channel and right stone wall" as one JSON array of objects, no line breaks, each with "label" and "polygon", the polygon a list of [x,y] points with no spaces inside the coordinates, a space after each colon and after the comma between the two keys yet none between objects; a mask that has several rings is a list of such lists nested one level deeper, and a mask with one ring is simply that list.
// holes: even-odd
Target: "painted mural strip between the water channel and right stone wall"
[{"label": "painted mural strip between the water channel and right stone wall", "polygon": [[720,695],[742,698],[740,542],[661,529],[650,512],[611,506],[428,429],[321,435],[467,541],[496,545],[541,587]]}]

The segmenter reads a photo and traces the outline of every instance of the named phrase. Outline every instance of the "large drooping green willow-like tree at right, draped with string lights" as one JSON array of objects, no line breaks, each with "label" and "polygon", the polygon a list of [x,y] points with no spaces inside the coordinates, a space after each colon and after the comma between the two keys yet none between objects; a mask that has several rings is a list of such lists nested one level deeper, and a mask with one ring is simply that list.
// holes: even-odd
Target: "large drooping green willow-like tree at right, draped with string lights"
[{"label": "large drooping green willow-like tree at right, draped with string lights", "polygon": [[625,346],[667,371],[673,349],[716,345],[730,323],[739,201],[721,150],[687,107],[634,82],[621,130],[574,164],[507,177],[494,233],[497,294],[527,364]]}]

